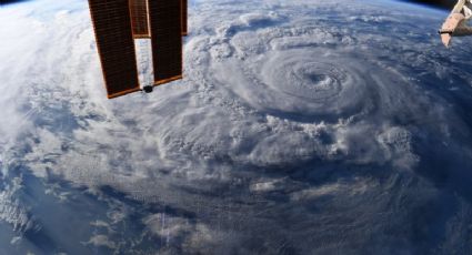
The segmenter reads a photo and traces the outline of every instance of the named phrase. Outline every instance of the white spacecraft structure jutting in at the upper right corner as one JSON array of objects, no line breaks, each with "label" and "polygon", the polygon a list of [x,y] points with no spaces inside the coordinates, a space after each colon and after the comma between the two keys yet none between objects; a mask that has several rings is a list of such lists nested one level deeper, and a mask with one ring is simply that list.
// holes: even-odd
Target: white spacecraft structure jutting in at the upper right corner
[{"label": "white spacecraft structure jutting in at the upper right corner", "polygon": [[472,35],[468,21],[472,18],[472,0],[459,0],[439,30],[442,43],[449,48],[452,37]]}]

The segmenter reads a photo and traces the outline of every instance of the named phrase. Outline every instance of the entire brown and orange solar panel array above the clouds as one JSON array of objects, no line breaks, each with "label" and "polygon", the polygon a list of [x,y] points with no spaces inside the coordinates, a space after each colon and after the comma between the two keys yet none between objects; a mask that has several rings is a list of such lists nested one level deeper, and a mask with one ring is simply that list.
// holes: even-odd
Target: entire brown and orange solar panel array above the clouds
[{"label": "entire brown and orange solar panel array above the clouds", "polygon": [[108,98],[140,90],[133,39],[151,39],[154,85],[182,78],[188,0],[89,0]]}]

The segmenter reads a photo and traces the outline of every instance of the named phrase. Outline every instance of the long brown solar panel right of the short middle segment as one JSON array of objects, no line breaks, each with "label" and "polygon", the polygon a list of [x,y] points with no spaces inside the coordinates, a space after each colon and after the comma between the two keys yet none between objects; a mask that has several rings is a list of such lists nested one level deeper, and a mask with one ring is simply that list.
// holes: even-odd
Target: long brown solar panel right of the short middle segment
[{"label": "long brown solar panel right of the short middle segment", "polygon": [[154,85],[182,78],[181,0],[149,1]]}]

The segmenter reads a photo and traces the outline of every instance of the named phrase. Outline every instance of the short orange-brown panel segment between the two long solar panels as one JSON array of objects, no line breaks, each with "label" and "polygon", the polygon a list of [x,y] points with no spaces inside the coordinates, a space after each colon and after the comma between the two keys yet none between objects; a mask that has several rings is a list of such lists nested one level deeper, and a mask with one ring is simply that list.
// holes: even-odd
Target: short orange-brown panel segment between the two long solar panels
[{"label": "short orange-brown panel segment between the two long solar panels", "polygon": [[148,0],[129,0],[131,26],[134,38],[150,38],[148,23]]}]

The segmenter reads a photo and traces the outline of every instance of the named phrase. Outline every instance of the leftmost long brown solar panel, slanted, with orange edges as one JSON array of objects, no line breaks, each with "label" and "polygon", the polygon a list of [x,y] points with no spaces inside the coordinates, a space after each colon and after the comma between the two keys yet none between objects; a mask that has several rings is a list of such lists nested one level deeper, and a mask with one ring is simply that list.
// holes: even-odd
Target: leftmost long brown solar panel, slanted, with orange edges
[{"label": "leftmost long brown solar panel, slanted, with orange edges", "polygon": [[128,0],[89,0],[108,98],[139,91]]}]

